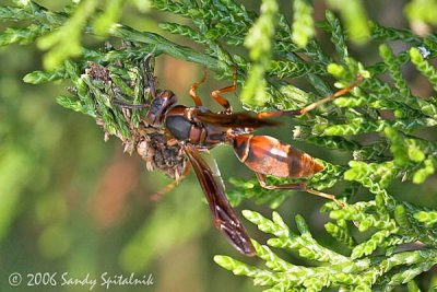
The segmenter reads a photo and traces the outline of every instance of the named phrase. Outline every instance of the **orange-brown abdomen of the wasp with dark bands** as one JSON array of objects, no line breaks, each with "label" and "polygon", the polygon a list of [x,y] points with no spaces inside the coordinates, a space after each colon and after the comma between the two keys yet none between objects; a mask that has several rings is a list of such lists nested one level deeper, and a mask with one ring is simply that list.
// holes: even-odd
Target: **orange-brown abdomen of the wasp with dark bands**
[{"label": "orange-brown abdomen of the wasp with dark bands", "polygon": [[323,170],[307,153],[270,136],[237,136],[234,152],[253,172],[277,177],[308,177]]}]

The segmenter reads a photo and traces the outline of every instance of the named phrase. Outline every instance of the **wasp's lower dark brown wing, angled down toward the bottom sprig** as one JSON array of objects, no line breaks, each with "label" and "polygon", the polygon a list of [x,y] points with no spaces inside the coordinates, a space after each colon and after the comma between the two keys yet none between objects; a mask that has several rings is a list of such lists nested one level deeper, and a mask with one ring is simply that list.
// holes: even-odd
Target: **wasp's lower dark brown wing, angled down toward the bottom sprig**
[{"label": "wasp's lower dark brown wing, angled down toward the bottom sprig", "polygon": [[238,252],[253,256],[253,245],[226,198],[224,184],[215,160],[208,151],[200,152],[190,144],[185,145],[185,153],[194,168],[199,183],[206,196],[215,226]]}]

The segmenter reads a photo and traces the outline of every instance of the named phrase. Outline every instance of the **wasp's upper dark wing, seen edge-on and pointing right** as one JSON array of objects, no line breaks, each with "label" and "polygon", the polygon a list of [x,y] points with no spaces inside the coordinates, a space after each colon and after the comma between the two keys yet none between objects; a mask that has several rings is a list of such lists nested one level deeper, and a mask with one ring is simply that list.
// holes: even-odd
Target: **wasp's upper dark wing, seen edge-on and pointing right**
[{"label": "wasp's upper dark wing, seen edge-on and pointing right", "polygon": [[200,121],[226,128],[260,128],[260,127],[273,127],[281,125],[281,122],[258,118],[248,113],[236,113],[236,114],[217,114],[217,113],[197,113],[196,118]]}]

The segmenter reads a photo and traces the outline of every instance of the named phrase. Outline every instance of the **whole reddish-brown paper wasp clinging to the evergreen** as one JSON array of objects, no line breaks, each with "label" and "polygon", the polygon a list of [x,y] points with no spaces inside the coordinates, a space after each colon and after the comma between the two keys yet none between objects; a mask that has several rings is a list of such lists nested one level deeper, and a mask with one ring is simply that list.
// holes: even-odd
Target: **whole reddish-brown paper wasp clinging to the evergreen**
[{"label": "whole reddish-brown paper wasp clinging to the evergreen", "polygon": [[[144,122],[149,127],[163,130],[165,136],[168,137],[166,143],[172,144],[169,141],[173,140],[173,144],[176,144],[188,157],[189,163],[185,165],[181,177],[188,174],[191,165],[206,196],[215,226],[238,252],[248,256],[255,255],[250,237],[227,200],[222,177],[214,159],[209,154],[209,149],[223,143],[232,145],[236,156],[256,173],[260,185],[264,188],[302,189],[335,200],[333,195],[310,189],[305,184],[268,185],[265,175],[291,178],[310,177],[322,171],[323,166],[307,153],[290,144],[270,136],[255,136],[252,132],[261,127],[279,125],[277,121],[270,119],[272,117],[304,115],[320,104],[347,93],[361,82],[361,77],[350,86],[303,109],[250,115],[248,113],[233,113],[229,102],[221,95],[236,91],[237,74],[235,68],[233,85],[211,93],[211,97],[224,108],[220,113],[213,113],[204,107],[196,93],[198,86],[206,79],[205,71],[202,80],[194,83],[190,90],[194,106],[177,104],[176,95],[169,90],[156,90],[154,77],[150,71],[146,71],[146,73],[150,74],[147,80],[150,81],[152,100],[150,104],[143,105],[143,107],[149,108]],[[122,104],[120,106],[130,107]],[[173,183],[172,187],[177,182],[180,182],[180,179]]]}]

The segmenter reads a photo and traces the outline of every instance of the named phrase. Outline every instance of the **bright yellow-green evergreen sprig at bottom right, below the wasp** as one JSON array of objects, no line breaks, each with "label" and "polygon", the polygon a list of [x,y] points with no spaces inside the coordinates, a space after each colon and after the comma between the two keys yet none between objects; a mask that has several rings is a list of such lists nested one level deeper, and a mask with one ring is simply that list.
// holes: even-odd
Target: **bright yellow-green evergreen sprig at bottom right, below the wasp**
[{"label": "bright yellow-green evergreen sprig at bottom right, below the wasp", "polygon": [[[347,206],[350,208],[351,206]],[[365,205],[357,203],[355,208],[364,208]],[[367,208],[369,205],[367,203]],[[347,211],[353,213],[353,211]],[[225,269],[235,275],[253,278],[253,283],[270,287],[264,291],[321,291],[323,288],[347,288],[353,291],[370,291],[370,289],[385,288],[390,291],[400,283],[411,281],[415,276],[429,270],[437,264],[435,249],[423,249],[413,252],[400,252],[383,257],[369,257],[375,247],[380,244],[393,244],[386,231],[378,231],[367,242],[354,248],[350,257],[332,254],[323,248],[310,235],[305,222],[296,217],[296,223],[300,235],[294,234],[284,224],[277,213],[273,213],[273,220],[269,220],[259,213],[244,211],[245,217],[257,224],[260,230],[274,234],[277,238],[268,241],[268,244],[276,248],[290,248],[300,257],[316,260],[327,260],[329,266],[303,267],[292,265],[277,255],[268,246],[255,242],[257,255],[265,261],[264,269],[253,268],[235,259],[216,256],[214,260]],[[349,218],[347,220],[354,220]],[[342,223],[344,225],[344,223]],[[392,232],[399,232],[399,229]],[[389,241],[389,242],[388,242]],[[356,250],[363,249],[364,258],[357,259]],[[320,252],[320,254],[319,254]],[[320,257],[318,257],[318,255]],[[387,276],[383,278],[382,276]]]}]

